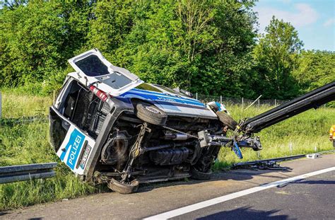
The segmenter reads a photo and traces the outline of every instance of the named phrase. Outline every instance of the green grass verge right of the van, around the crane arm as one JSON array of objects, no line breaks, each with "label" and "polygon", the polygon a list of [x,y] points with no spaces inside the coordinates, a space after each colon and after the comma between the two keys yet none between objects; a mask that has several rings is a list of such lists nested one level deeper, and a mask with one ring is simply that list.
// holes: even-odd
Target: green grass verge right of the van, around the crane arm
[{"label": "green grass verge right of the van, around the crane arm", "polygon": [[[243,111],[240,106],[232,105],[227,107],[235,120],[245,117],[253,117],[261,112],[271,109],[269,106],[261,108],[249,108]],[[253,151],[242,149],[243,159],[237,158],[233,151],[222,148],[218,156],[218,163],[215,168],[223,168],[233,163],[242,161],[254,161],[257,159],[290,156],[295,154],[314,153],[333,149],[329,141],[329,128],[334,123],[335,108],[319,108],[308,110],[300,115],[295,115],[288,120],[263,129],[258,134],[261,138],[263,149]],[[290,147],[292,146],[292,151]]]}]

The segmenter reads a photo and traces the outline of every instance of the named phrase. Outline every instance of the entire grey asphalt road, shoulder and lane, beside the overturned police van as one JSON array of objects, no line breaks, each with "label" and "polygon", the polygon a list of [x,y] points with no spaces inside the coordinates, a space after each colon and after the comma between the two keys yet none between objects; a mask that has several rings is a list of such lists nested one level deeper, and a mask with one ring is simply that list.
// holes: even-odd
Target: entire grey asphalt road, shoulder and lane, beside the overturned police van
[{"label": "entire grey asphalt road, shoulder and lane, beside the overturned police van", "polygon": [[[335,167],[335,154],[281,163],[290,170],[232,170],[209,181],[144,185],[138,193],[90,195],[0,212],[0,219],[142,219],[267,183]],[[335,219],[335,171],[181,213],[173,219]]]}]

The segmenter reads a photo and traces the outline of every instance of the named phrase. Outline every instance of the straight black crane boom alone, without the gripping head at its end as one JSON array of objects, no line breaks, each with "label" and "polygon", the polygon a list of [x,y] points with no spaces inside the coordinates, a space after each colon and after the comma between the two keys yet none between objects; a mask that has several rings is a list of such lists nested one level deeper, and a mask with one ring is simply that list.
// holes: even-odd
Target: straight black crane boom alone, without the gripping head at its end
[{"label": "straight black crane boom alone, without the gripping head at its end", "polygon": [[283,105],[279,105],[261,115],[241,122],[238,131],[245,134],[257,133],[261,129],[298,115],[301,112],[305,112],[311,108],[319,108],[319,106],[331,100],[335,100],[335,81],[290,100],[287,103],[283,103]]}]

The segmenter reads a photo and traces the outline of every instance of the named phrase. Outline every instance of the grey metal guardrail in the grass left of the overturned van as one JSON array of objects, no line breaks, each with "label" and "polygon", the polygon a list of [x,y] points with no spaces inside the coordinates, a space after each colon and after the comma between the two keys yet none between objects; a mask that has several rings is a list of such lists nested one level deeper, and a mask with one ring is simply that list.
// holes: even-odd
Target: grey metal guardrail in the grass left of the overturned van
[{"label": "grey metal guardrail in the grass left of the overturned van", "polygon": [[3,166],[0,167],[0,184],[41,178],[52,178],[56,174],[53,170],[56,166],[57,163]]}]

